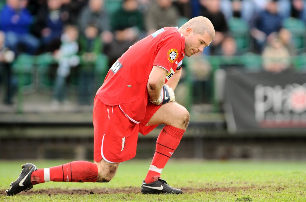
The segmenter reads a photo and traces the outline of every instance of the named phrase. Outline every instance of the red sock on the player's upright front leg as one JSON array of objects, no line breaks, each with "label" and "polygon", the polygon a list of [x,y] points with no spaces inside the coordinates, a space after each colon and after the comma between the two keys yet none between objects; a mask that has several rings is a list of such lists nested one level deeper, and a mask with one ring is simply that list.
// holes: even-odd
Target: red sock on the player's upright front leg
[{"label": "red sock on the player's upright front leg", "polygon": [[146,183],[155,182],[160,178],[162,169],[179,145],[185,130],[166,125],[156,141],[156,150],[151,162],[151,166],[144,181]]}]

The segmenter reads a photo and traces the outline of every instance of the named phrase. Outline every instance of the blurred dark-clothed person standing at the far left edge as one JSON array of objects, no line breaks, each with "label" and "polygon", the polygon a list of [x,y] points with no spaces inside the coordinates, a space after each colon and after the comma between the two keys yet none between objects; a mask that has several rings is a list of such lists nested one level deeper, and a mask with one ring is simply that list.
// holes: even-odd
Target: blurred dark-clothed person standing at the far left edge
[{"label": "blurred dark-clothed person standing at the far left edge", "polygon": [[15,59],[13,51],[5,47],[5,34],[0,32],[0,83],[6,83],[5,104],[13,104],[13,95],[17,89],[17,78],[13,77],[11,63]]}]

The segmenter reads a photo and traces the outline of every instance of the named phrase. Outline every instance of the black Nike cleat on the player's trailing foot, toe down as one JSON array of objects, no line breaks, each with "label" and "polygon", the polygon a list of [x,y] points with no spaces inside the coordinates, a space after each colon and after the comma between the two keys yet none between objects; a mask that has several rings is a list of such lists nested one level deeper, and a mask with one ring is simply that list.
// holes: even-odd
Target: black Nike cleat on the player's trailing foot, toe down
[{"label": "black Nike cleat on the player's trailing foot, toe down", "polygon": [[13,196],[22,191],[28,191],[33,187],[31,183],[31,174],[33,171],[37,170],[36,166],[31,163],[26,163],[21,165],[21,168],[22,170],[17,180],[11,182],[11,188],[5,191],[8,196]]}]

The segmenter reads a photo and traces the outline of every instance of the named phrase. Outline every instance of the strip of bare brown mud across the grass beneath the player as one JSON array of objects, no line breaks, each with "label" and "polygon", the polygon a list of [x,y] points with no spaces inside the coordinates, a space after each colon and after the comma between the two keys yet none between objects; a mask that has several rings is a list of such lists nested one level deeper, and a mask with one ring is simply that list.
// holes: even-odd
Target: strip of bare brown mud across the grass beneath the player
[{"label": "strip of bare brown mud across the grass beneath the player", "polygon": [[[228,188],[186,188],[182,187],[183,193],[200,193],[200,192],[235,192],[237,190],[247,190],[254,187],[228,187]],[[21,192],[19,195],[34,195],[34,194],[112,194],[112,193],[140,193],[139,187],[124,187],[124,188],[93,188],[93,189],[38,189]],[[5,190],[0,190],[0,195],[6,195]]]}]

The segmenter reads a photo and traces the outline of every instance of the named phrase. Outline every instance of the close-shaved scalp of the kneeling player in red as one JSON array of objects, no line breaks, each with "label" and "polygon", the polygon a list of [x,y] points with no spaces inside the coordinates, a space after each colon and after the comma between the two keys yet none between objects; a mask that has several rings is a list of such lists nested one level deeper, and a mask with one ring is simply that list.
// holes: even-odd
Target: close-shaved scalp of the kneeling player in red
[{"label": "close-shaved scalp of the kneeling player in red", "polygon": [[203,16],[197,16],[190,19],[188,22],[183,24],[180,27],[180,30],[183,31],[187,27],[191,27],[194,34],[204,34],[207,33],[211,39],[215,38],[215,28],[212,25],[211,21]]}]

